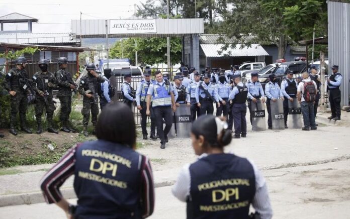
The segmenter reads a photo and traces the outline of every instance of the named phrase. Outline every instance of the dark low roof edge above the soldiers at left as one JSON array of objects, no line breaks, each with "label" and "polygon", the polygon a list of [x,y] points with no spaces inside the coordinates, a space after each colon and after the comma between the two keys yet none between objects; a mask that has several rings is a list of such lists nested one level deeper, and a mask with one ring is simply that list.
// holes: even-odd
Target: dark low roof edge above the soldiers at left
[{"label": "dark low roof edge above the soldiers at left", "polygon": [[35,45],[35,44],[14,44],[14,43],[0,43],[0,47],[6,47],[11,49],[24,49],[27,47],[38,48],[46,51],[66,51],[66,52],[83,52],[94,51],[95,49],[88,47],[73,47],[73,46],[47,46],[47,45]]}]

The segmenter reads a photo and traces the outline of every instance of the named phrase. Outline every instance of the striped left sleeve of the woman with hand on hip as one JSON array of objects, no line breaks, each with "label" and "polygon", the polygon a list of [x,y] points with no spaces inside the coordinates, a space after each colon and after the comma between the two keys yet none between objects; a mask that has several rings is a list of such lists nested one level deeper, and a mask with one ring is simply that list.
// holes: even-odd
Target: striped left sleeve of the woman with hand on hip
[{"label": "striped left sleeve of the woman with hand on hip", "polygon": [[48,204],[57,203],[62,199],[59,190],[64,181],[74,173],[75,150],[74,145],[68,152],[44,175],[40,181],[40,187],[45,201]]}]

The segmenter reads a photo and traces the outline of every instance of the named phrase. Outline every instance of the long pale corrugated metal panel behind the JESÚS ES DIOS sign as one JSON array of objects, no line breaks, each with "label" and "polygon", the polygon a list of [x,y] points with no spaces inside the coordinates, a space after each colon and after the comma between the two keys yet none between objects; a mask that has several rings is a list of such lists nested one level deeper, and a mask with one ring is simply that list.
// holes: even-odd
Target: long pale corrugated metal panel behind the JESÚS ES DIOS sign
[{"label": "long pale corrugated metal panel behind the JES\u00daS ES DIOS sign", "polygon": [[[141,20],[141,19],[140,19]],[[142,34],[110,34],[110,20],[108,20],[109,37],[151,37],[151,36],[182,36],[184,34],[204,33],[203,19],[155,19],[156,33]],[[80,35],[80,20],[71,20],[72,33]],[[81,34],[83,38],[94,35],[106,35],[106,20],[81,20]]]}]

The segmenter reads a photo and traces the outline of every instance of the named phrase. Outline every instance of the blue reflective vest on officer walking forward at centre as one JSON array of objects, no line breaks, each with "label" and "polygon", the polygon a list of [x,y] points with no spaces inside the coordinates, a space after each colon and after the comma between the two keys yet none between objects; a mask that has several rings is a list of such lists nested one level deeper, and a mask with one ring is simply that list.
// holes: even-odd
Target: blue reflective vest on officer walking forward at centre
[{"label": "blue reflective vest on officer walking forward at centre", "polygon": [[168,80],[164,80],[162,85],[153,81],[153,103],[152,107],[171,105],[170,86]]}]

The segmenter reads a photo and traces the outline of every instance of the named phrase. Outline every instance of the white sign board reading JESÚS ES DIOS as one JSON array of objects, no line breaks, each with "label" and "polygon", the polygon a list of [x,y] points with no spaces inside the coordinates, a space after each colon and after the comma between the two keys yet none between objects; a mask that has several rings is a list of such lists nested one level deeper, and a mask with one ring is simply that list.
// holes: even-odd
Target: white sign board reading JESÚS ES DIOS
[{"label": "white sign board reading JES\u00daS ES DIOS", "polygon": [[150,20],[111,20],[110,34],[156,33],[155,19]]}]

